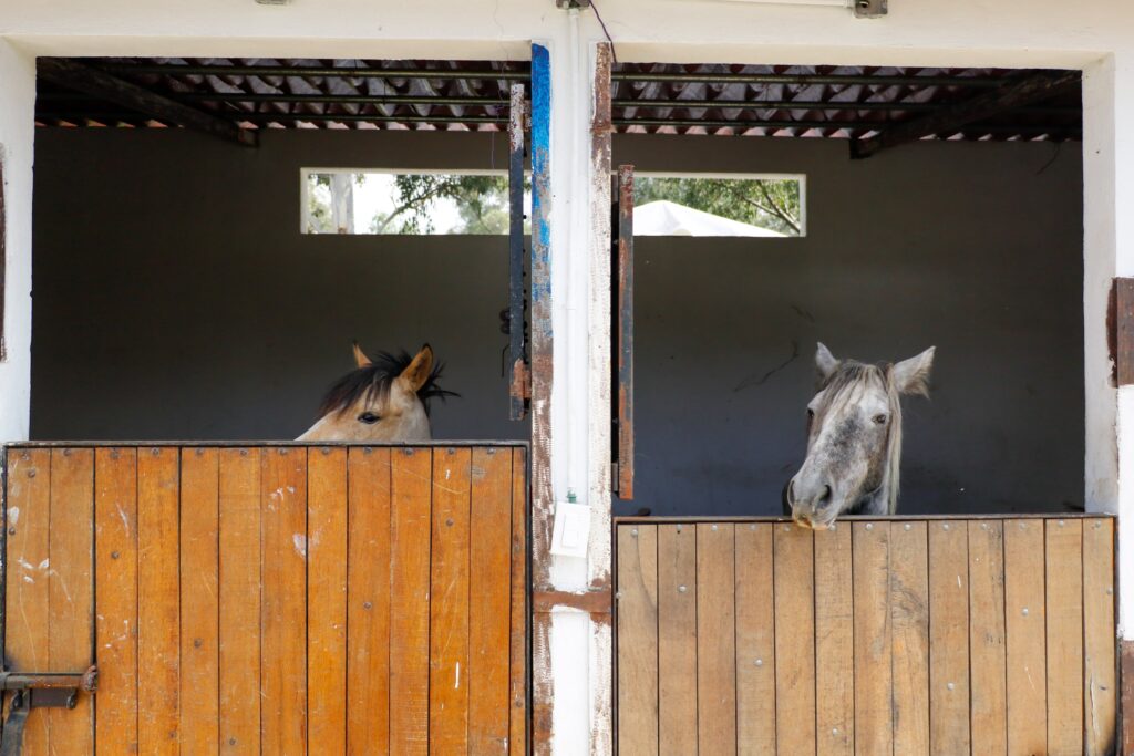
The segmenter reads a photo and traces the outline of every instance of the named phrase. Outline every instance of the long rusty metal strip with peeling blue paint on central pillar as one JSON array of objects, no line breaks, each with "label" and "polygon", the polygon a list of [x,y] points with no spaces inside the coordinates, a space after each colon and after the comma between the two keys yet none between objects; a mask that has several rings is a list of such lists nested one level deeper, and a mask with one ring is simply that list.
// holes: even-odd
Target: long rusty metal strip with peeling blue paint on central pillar
[{"label": "long rusty metal strip with peeling blue paint on central pillar", "polygon": [[[551,56],[532,45],[532,589],[551,589]],[[532,617],[532,751],[551,754],[551,615]]]}]

